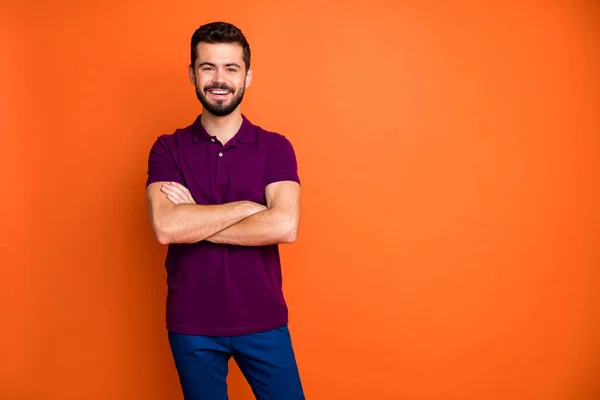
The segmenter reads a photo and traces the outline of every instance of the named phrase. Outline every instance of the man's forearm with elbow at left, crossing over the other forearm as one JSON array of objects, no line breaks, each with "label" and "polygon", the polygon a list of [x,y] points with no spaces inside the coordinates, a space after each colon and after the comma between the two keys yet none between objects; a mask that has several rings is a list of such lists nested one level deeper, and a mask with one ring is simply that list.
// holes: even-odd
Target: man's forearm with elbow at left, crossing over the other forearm
[{"label": "man's forearm with elbow at left, crossing over the other forearm", "polygon": [[172,204],[155,221],[159,242],[196,243],[252,215],[249,202],[219,205]]}]

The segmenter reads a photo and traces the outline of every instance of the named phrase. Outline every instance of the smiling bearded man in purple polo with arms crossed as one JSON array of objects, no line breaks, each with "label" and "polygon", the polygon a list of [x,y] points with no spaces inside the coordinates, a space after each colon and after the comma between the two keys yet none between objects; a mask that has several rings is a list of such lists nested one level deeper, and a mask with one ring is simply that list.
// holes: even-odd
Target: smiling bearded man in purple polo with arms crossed
[{"label": "smiling bearded man in purple polo with arms crossed", "polygon": [[167,330],[184,397],[227,399],[233,357],[257,399],[304,399],[278,251],[298,233],[294,149],[240,111],[252,68],[238,28],[198,28],[189,77],[203,111],[158,137],[146,184],[153,231],[169,246]]}]

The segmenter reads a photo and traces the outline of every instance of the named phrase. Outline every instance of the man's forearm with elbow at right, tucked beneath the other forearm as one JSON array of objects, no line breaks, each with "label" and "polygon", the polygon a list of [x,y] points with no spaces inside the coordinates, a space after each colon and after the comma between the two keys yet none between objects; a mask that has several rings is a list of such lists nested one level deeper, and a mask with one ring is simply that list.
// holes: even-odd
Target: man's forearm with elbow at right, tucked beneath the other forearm
[{"label": "man's forearm with elbow at right, tucked beneath the other forearm", "polygon": [[239,246],[291,243],[296,240],[297,225],[289,212],[273,208],[253,214],[206,240]]}]

